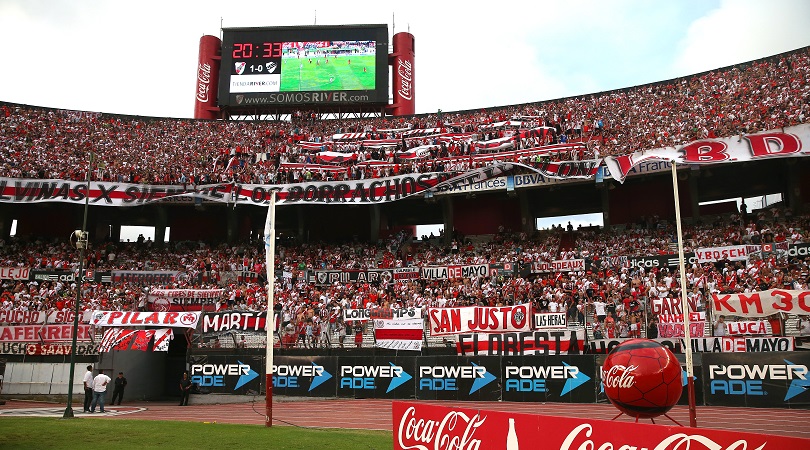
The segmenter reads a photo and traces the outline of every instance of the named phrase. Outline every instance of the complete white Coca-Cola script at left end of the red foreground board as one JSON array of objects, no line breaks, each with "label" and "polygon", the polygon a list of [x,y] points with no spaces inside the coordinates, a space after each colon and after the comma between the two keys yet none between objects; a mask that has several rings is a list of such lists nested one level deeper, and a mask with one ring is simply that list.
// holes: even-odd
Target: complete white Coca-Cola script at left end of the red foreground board
[{"label": "complete white Coca-Cola script at left end of the red foreground board", "polygon": [[482,447],[475,433],[486,420],[459,411],[450,411],[441,420],[422,419],[411,406],[399,420],[397,444],[403,450],[477,450]]}]

